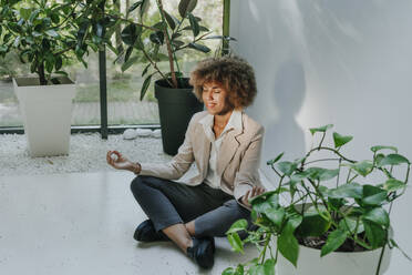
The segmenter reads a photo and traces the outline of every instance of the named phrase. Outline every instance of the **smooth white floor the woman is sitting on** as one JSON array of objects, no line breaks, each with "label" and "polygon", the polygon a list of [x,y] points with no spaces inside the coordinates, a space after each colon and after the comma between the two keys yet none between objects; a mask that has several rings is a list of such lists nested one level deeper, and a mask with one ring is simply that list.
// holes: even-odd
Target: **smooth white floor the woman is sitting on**
[{"label": "smooth white floor the woman is sitting on", "polygon": [[99,172],[0,177],[0,274],[220,274],[255,256],[217,238],[215,266],[199,269],[172,243],[137,244],[146,218],[132,173]]}]

